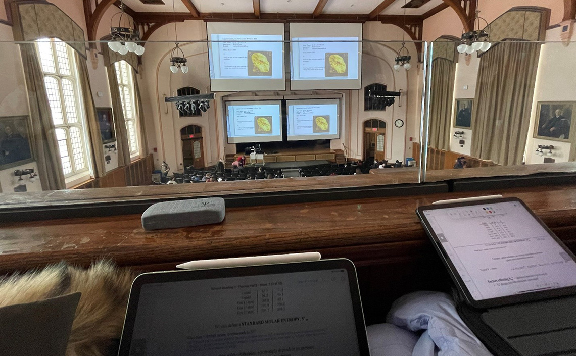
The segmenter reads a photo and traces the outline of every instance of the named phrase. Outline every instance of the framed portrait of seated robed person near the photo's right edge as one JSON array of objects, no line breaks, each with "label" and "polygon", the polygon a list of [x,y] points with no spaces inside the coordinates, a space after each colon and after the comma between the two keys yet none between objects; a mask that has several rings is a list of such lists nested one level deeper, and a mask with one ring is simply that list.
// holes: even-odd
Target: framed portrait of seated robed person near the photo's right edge
[{"label": "framed portrait of seated robed person near the photo's right edge", "polygon": [[576,101],[539,101],[534,137],[570,142]]}]

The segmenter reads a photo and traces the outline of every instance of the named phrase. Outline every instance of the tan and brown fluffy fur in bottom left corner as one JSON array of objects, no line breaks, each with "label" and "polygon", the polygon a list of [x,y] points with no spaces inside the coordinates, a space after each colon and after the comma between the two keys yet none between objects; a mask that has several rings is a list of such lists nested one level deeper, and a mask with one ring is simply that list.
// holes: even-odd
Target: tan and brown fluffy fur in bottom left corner
[{"label": "tan and brown fluffy fur in bottom left corner", "polygon": [[100,261],[87,270],[66,263],[0,279],[0,307],[82,293],[66,356],[118,353],[130,286],[137,274]]}]

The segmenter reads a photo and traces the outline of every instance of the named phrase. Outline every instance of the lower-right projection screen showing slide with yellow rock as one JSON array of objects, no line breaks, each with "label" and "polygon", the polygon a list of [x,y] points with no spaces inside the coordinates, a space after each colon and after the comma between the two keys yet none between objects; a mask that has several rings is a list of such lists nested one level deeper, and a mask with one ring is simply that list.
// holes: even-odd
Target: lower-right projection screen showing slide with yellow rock
[{"label": "lower-right projection screen showing slide with yellow rock", "polygon": [[340,138],[340,100],[288,100],[288,141]]}]

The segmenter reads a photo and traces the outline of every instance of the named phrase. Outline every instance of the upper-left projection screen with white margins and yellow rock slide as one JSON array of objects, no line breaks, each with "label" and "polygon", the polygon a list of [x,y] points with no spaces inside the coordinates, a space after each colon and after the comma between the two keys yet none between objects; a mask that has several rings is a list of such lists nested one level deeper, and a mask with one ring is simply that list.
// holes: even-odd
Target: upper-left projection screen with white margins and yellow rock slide
[{"label": "upper-left projection screen with white margins and yellow rock slide", "polygon": [[213,92],[285,90],[282,24],[208,22]]}]

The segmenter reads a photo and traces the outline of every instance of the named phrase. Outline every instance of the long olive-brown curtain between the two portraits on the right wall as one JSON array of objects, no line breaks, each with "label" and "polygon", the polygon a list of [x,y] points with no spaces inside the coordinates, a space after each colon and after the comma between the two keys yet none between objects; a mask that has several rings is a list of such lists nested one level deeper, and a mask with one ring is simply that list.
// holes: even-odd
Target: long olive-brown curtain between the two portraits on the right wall
[{"label": "long olive-brown curtain between the two portraits on the right wall", "polygon": [[472,112],[472,156],[500,165],[524,158],[540,44],[505,42],[482,55]]}]

